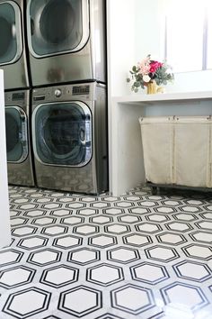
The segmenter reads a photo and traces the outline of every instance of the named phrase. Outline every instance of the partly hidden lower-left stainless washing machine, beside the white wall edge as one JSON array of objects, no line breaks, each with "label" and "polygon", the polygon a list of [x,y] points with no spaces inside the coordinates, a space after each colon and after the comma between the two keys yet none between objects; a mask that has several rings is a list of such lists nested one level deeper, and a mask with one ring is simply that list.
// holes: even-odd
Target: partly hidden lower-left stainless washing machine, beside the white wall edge
[{"label": "partly hidden lower-left stainless washing machine, beside the white wall edge", "polygon": [[5,92],[8,182],[34,186],[31,159],[30,90]]}]

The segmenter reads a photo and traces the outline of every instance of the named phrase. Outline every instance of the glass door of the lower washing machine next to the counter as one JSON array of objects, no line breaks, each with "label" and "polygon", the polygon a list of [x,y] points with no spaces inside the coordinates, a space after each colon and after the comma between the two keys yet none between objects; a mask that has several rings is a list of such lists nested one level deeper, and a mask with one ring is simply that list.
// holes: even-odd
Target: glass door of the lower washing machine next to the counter
[{"label": "glass door of the lower washing machine next to the counter", "polygon": [[35,157],[42,164],[81,167],[92,158],[92,114],[82,102],[38,105],[32,130]]}]

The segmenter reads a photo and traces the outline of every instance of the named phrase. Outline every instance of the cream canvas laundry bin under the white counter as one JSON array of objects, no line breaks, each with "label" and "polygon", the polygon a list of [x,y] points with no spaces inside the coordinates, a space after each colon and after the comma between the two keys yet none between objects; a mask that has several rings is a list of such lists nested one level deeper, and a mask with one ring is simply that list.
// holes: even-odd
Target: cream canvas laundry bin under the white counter
[{"label": "cream canvas laundry bin under the white counter", "polygon": [[140,117],[146,181],[212,187],[210,116]]}]

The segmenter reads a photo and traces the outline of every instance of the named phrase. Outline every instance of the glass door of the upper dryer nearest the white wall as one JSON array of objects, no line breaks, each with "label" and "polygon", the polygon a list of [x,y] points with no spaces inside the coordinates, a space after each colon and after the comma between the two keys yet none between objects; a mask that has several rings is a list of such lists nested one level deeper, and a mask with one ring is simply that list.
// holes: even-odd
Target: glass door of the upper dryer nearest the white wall
[{"label": "glass door of the upper dryer nearest the white wall", "polygon": [[88,0],[30,0],[27,6],[31,54],[43,58],[81,50],[89,38]]}]

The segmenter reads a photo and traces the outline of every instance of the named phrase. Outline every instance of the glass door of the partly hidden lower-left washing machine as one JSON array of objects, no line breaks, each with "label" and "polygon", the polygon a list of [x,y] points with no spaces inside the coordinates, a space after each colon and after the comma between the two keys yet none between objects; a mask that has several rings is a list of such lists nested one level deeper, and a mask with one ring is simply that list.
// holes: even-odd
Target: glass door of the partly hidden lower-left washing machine
[{"label": "glass door of the partly hidden lower-left washing machine", "polygon": [[7,161],[21,163],[28,156],[27,116],[19,106],[5,107]]}]

